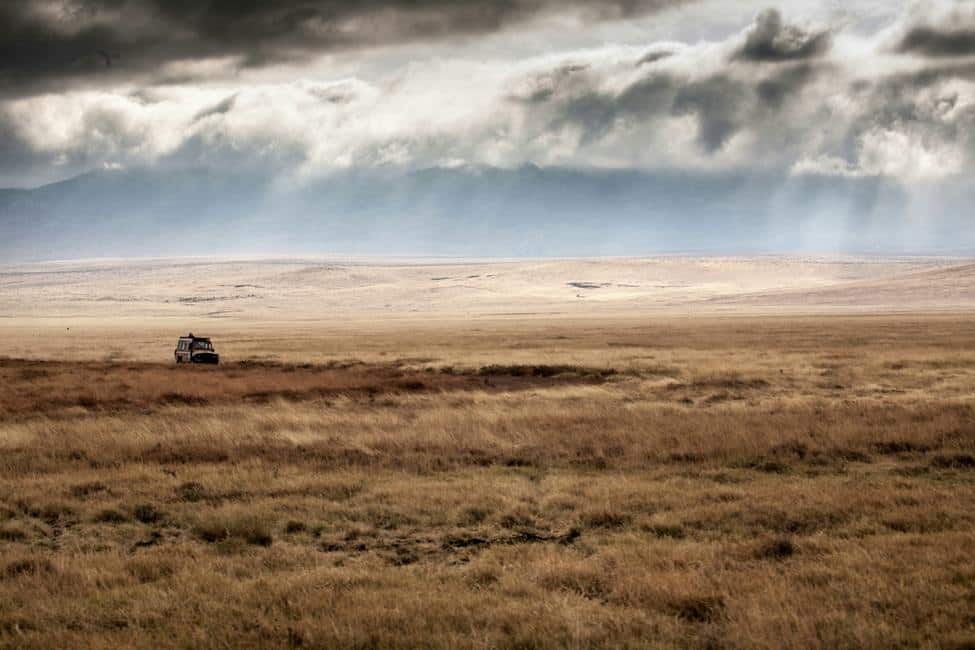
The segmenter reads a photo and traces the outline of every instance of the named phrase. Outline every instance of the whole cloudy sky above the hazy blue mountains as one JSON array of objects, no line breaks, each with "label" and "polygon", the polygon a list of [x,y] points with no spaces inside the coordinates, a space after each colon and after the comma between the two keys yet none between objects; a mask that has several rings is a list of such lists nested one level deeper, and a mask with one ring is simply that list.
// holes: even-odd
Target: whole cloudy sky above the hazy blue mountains
[{"label": "whole cloudy sky above the hazy blue mountains", "polygon": [[883,177],[975,159],[975,2],[0,4],[0,186],[525,164]]}]

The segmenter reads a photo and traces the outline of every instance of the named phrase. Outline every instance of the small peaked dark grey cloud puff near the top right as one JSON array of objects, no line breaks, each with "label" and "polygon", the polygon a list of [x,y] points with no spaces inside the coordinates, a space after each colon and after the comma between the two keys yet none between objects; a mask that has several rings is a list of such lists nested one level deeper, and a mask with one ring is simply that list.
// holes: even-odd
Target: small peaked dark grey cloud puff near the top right
[{"label": "small peaked dark grey cloud puff near the top right", "polygon": [[755,19],[735,58],[756,62],[813,59],[828,52],[831,43],[828,30],[806,31],[787,25],[778,10],[767,9]]}]

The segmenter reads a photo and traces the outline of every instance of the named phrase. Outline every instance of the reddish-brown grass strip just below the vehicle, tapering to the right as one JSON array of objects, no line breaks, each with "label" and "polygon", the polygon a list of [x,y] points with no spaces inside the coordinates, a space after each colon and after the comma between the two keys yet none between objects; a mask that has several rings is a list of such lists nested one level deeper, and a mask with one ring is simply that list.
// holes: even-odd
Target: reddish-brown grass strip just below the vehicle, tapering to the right
[{"label": "reddish-brown grass strip just below the vehicle, tapering to the right", "polygon": [[0,415],[133,411],[158,406],[207,406],[274,399],[305,401],[404,392],[523,390],[594,383],[615,372],[561,365],[482,368],[405,367],[402,362],[278,364],[239,361],[223,366],[161,363],[54,362],[0,357]]}]

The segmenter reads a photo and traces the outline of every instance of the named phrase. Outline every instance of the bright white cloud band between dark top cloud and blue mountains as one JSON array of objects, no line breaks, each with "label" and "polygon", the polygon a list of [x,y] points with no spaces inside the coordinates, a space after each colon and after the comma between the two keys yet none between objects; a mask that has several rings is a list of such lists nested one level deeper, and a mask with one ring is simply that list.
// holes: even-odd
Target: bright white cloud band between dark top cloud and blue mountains
[{"label": "bright white cloud band between dark top cloud and blue mountains", "polygon": [[915,87],[910,75],[928,62],[855,31],[815,60],[737,61],[747,33],[519,60],[446,48],[363,74],[337,65],[343,74],[331,80],[321,67],[331,58],[304,74],[287,69],[287,80],[268,70],[234,77],[229,59],[180,62],[163,71],[167,85],[8,101],[0,119],[35,155],[78,171],[232,161],[308,178],[351,167],[535,163],[915,183],[971,167],[971,82],[949,75]]}]

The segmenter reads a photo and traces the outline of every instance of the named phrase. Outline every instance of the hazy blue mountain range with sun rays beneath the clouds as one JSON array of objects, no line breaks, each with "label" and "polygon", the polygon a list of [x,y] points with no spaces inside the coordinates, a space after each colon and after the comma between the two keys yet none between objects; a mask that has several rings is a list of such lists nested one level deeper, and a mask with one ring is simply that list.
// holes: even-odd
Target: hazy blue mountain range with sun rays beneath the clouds
[{"label": "hazy blue mountain range with sun rays beneath the clouds", "polygon": [[[902,192],[884,181],[771,180],[527,166],[360,172],[285,187],[213,169],[106,170],[0,190],[0,259],[957,252],[972,245],[967,213],[921,228]],[[781,189],[770,195],[769,187]]]}]

